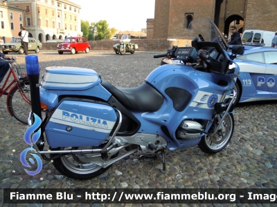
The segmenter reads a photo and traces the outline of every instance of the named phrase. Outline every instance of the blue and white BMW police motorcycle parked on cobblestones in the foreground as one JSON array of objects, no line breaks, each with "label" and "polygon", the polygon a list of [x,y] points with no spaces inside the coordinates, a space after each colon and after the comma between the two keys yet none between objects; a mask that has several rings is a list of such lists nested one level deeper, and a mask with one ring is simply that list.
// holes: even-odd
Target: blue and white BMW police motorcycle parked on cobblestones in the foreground
[{"label": "blue and white BMW police motorcycle parked on cobblestones in the foreground", "polygon": [[[229,55],[210,19],[193,20],[189,32],[195,37],[192,46],[155,55],[172,64],[159,66],[136,88],[116,88],[91,69],[46,68],[40,88],[44,136],[35,153],[67,177],[90,179],[138,151],[157,155],[164,172],[166,148],[223,150],[234,130],[239,68],[233,59],[244,48],[233,46]],[[30,113],[30,125],[32,120]],[[44,150],[44,137],[49,150]]]}]

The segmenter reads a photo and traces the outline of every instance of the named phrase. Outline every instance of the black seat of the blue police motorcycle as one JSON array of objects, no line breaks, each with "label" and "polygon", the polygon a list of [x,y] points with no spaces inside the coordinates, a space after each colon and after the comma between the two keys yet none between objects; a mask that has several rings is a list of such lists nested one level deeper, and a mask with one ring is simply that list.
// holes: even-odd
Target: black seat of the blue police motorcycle
[{"label": "black seat of the blue police motorcycle", "polygon": [[129,110],[154,112],[163,104],[163,95],[148,83],[136,88],[115,87],[106,81],[101,84]]}]

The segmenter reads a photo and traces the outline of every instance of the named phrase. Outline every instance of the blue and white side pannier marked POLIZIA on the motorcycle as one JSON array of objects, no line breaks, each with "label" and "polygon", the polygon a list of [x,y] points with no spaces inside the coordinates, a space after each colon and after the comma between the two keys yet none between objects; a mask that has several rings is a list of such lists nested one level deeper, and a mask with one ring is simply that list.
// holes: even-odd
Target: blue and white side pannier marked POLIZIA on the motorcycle
[{"label": "blue and white side pannier marked POLIZIA on the motorcycle", "polygon": [[51,148],[99,146],[109,136],[116,120],[111,106],[62,101],[46,125],[46,139]]}]

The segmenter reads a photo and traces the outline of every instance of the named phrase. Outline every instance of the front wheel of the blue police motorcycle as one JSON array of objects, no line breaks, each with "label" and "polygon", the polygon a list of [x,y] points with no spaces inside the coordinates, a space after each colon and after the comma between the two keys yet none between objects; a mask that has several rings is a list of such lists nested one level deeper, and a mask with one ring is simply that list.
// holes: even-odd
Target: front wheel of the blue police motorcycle
[{"label": "front wheel of the blue police motorcycle", "polygon": [[[218,123],[217,119],[215,119],[213,126],[211,126],[211,131],[215,130],[215,123]],[[227,144],[229,144],[229,141],[233,136],[233,130],[233,114],[228,114],[222,122],[222,128],[217,130],[217,132],[215,132],[213,135],[204,135],[198,146],[203,152],[208,154],[215,154],[220,152],[227,146]]]}]

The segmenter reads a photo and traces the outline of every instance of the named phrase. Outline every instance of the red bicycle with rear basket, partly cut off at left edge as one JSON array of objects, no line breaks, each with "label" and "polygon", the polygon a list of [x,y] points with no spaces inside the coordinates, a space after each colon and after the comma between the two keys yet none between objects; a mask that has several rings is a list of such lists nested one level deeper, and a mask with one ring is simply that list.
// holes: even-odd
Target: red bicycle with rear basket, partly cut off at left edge
[{"label": "red bicycle with rear basket, partly cut off at left edge", "polygon": [[[10,115],[21,123],[28,124],[28,114],[32,109],[26,68],[21,68],[16,63],[15,57],[12,57],[12,60],[0,59],[0,61],[8,61],[10,63],[8,77],[3,83],[0,97],[7,95],[6,105]],[[17,75],[15,72],[17,72]],[[13,79],[10,81],[9,79],[12,77]]]}]

